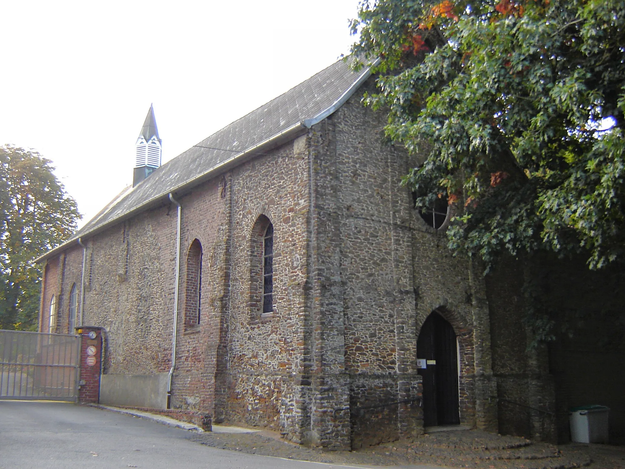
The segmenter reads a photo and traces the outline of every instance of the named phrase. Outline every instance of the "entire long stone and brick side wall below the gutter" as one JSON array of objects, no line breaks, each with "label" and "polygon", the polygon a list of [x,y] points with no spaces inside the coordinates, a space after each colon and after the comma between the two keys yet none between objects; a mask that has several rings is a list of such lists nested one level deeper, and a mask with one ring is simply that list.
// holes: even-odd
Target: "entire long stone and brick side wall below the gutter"
[{"label": "entire long stone and brick side wall below the gutter", "polygon": [[[301,441],[307,411],[298,399],[309,189],[307,156],[301,143],[297,148],[291,142],[178,196],[183,226],[171,407],[210,413],[216,421],[269,426]],[[249,308],[249,243],[260,214],[274,224],[275,240],[275,309],[262,319]],[[202,306],[199,325],[189,327],[184,324],[186,255],[196,239],[202,246]],[[83,323],[106,331],[104,373],[169,371],[176,206],[164,203],[84,241]],[[47,263],[44,329],[51,295],[59,300],[74,282],[79,285],[82,260],[83,250],[73,247]],[[66,309],[63,301],[58,305]],[[59,323],[63,327],[66,322]]]}]

